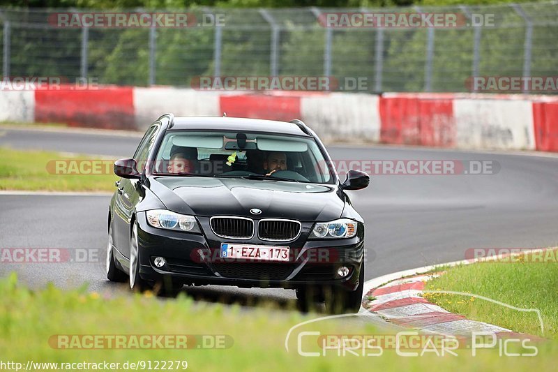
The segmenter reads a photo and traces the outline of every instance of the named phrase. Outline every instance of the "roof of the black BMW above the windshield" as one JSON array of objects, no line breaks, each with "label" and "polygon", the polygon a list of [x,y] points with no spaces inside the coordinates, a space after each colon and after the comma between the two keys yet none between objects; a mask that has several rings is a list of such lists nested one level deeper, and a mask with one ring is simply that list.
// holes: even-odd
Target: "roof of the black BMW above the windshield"
[{"label": "roof of the black BMW above the windshield", "polygon": [[309,137],[294,123],[287,121],[247,119],[241,117],[175,117],[169,130],[199,129],[210,131],[268,132]]}]

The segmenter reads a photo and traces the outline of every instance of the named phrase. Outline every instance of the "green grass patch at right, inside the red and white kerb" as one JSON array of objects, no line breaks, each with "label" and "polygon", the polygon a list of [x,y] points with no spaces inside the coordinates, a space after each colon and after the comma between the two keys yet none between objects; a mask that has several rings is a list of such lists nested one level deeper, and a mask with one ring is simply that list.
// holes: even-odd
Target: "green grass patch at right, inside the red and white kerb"
[{"label": "green grass patch at right, inside the red and white kerb", "polygon": [[[556,254],[552,253],[552,257]],[[426,288],[472,293],[518,308],[537,308],[543,318],[544,334],[533,312],[460,295],[431,293],[425,297],[472,320],[558,340],[558,262],[532,262],[530,257],[520,256],[516,262],[478,262],[447,268],[444,274],[428,281]]]}]

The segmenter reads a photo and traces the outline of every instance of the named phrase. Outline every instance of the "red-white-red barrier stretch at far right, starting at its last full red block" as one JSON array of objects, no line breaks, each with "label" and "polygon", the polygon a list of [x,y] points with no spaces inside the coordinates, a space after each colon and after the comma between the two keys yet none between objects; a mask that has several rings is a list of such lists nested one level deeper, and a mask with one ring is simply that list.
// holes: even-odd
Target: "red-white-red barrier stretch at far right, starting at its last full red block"
[{"label": "red-white-red barrier stretch at far right, starting at its last full red block", "polygon": [[460,149],[558,151],[557,109],[558,98],[548,96],[384,94],[380,140]]}]

